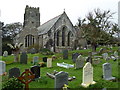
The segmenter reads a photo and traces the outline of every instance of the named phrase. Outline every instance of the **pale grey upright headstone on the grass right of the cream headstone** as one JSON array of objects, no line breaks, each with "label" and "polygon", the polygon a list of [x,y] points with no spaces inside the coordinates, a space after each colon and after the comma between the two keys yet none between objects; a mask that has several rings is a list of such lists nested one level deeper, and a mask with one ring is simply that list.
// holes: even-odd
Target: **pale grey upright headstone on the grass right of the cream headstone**
[{"label": "pale grey upright headstone on the grass right of the cream headstone", "polygon": [[110,63],[103,64],[103,78],[105,80],[114,80],[115,77],[112,77],[112,68]]}]

